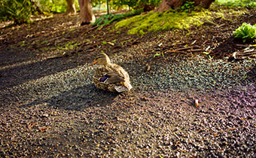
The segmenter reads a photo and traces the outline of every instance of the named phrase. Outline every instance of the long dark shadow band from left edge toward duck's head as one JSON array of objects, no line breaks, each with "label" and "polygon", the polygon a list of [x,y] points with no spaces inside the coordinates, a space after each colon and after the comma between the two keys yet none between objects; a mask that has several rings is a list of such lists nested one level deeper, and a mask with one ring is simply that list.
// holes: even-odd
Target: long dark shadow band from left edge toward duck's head
[{"label": "long dark shadow band from left edge toward duck's head", "polygon": [[17,65],[0,69],[0,89],[14,87],[28,81],[36,80],[59,71],[76,68],[89,62],[89,55],[44,59],[36,62],[17,62]]}]

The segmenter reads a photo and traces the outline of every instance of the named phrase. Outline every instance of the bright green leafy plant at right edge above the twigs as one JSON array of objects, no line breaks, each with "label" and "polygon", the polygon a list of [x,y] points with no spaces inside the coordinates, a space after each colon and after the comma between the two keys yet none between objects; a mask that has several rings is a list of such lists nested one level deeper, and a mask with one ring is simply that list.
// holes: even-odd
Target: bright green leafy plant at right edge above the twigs
[{"label": "bright green leafy plant at right edge above the twigs", "polygon": [[242,38],[242,41],[245,42],[246,39],[256,38],[256,24],[251,26],[248,23],[242,23],[242,26],[239,26],[236,31],[233,32],[236,38]]}]

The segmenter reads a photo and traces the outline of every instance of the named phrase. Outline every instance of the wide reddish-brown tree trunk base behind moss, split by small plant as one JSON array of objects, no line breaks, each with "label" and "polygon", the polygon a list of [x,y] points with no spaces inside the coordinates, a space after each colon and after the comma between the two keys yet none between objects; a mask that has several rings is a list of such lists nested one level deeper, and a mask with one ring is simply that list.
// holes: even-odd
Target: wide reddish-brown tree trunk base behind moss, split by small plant
[{"label": "wide reddish-brown tree trunk base behind moss, split by small plant", "polygon": [[[168,11],[169,9],[178,9],[181,8],[182,5],[184,5],[184,2],[187,0],[163,0],[160,5],[154,10],[154,11]],[[194,6],[200,6],[202,8],[209,8],[210,5],[212,5],[212,2],[215,0],[191,0],[194,3]]]}]

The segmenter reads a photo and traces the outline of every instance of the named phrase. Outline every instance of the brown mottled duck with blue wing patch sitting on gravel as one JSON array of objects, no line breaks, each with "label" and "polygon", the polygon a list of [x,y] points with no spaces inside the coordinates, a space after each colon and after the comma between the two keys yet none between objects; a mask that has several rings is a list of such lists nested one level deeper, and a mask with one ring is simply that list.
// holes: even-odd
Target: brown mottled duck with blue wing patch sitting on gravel
[{"label": "brown mottled duck with blue wing patch sitting on gravel", "polygon": [[120,65],[114,64],[105,53],[99,53],[90,65],[98,64],[93,74],[93,84],[108,92],[129,92],[133,86],[130,76]]}]

